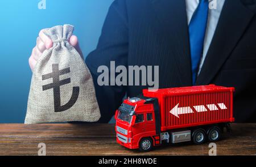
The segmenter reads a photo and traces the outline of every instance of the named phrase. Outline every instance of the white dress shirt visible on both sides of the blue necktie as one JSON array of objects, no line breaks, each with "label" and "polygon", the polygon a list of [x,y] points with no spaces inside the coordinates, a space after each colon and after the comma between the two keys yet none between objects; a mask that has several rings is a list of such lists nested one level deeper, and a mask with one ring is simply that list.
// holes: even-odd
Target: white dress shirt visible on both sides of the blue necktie
[{"label": "white dress shirt visible on both sides of the blue necktie", "polygon": [[[185,0],[185,2],[186,2],[187,18],[188,18],[188,25],[189,25],[192,15],[195,12],[197,6],[199,5],[199,0]],[[215,32],[215,29],[217,27],[218,19],[220,18],[220,14],[224,6],[225,0],[209,0],[209,3],[216,3],[217,6],[216,6],[216,9],[214,8],[209,9],[207,29],[206,29],[205,38],[204,38],[203,57],[201,58],[199,71],[197,75],[201,71],[210,43],[212,42],[212,38]]]}]

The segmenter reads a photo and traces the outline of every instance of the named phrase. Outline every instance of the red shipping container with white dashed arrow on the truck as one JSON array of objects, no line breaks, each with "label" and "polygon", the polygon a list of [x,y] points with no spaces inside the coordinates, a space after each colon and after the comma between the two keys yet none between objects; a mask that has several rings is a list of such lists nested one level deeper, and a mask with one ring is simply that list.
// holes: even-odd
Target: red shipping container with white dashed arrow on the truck
[{"label": "red shipping container with white dashed arrow on the truck", "polygon": [[233,122],[234,88],[202,85],[167,88],[152,91],[144,89],[143,95],[158,99],[161,130],[177,129],[220,122]]}]

